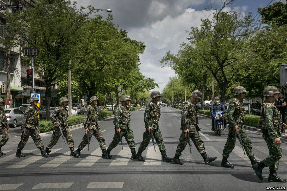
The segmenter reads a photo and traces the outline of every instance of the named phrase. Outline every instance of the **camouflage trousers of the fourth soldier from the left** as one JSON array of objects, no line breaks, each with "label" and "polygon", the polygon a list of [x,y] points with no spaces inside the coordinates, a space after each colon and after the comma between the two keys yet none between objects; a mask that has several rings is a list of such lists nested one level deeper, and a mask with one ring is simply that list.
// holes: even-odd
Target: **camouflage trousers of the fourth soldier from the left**
[{"label": "camouflage trousers of the fourth soldier from the left", "polygon": [[[101,129],[89,129],[89,130],[90,130],[89,131],[89,141],[91,141],[91,138],[94,135],[100,143],[101,150],[105,150],[106,149],[106,142],[105,142],[105,138],[104,138],[104,135],[103,135]],[[79,150],[82,150],[87,144],[88,144],[88,139],[87,139],[87,135],[85,133],[83,136],[83,140],[79,145]]]}]

